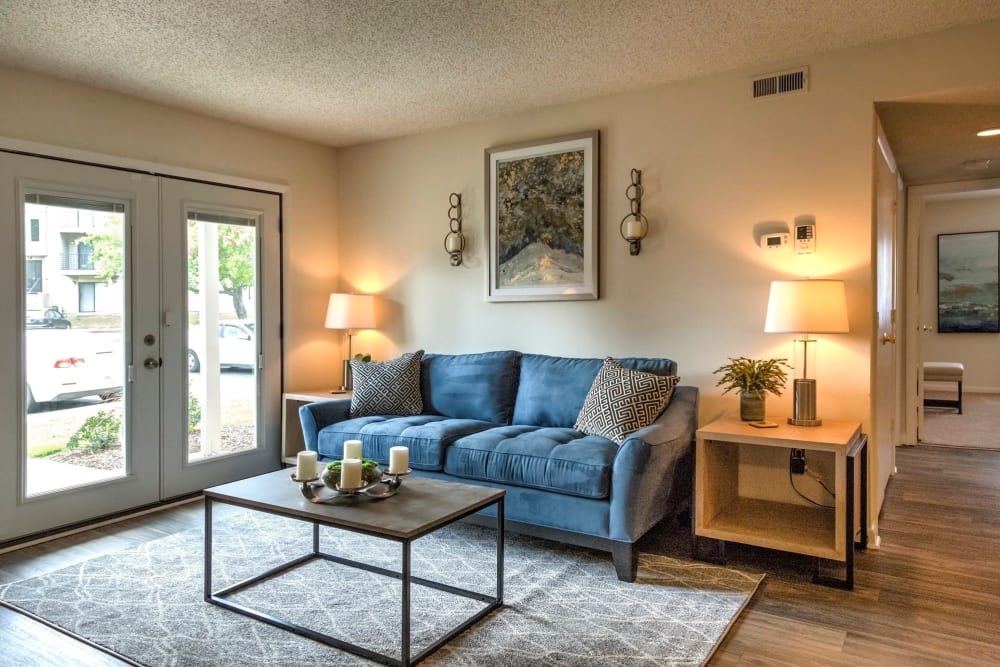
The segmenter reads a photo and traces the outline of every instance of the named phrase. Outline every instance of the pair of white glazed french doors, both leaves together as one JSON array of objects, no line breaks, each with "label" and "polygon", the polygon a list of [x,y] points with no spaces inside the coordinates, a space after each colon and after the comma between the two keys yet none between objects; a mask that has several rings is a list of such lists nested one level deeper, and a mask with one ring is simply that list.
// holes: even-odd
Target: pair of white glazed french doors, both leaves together
[{"label": "pair of white glazed french doors, both leaves together", "polygon": [[0,152],[0,543],[277,467],[278,216]]}]

